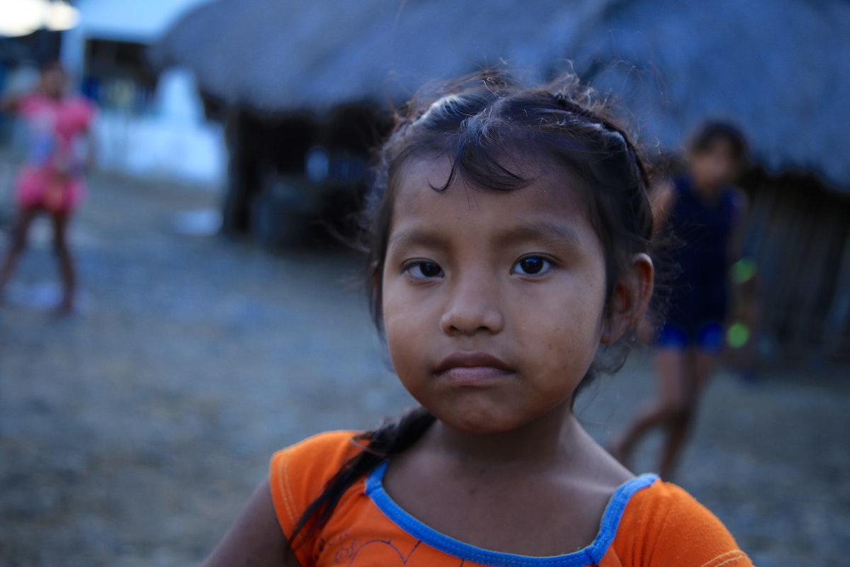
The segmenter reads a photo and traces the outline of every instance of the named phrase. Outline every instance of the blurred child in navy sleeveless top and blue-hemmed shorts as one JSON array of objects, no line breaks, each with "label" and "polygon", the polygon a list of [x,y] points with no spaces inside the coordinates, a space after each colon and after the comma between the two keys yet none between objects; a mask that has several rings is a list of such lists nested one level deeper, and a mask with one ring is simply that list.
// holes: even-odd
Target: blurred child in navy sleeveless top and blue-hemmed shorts
[{"label": "blurred child in navy sleeveless top and blue-hemmed shorts", "polygon": [[743,135],[724,122],[707,122],[688,151],[689,175],[660,188],[656,218],[681,245],[673,250],[666,321],[655,344],[659,400],[650,404],[612,451],[627,463],[650,429],[666,428],[661,477],[670,479],[694,420],[700,394],[717,364],[726,334],[729,268],[737,258],[743,197],[731,185],[746,155]]}]

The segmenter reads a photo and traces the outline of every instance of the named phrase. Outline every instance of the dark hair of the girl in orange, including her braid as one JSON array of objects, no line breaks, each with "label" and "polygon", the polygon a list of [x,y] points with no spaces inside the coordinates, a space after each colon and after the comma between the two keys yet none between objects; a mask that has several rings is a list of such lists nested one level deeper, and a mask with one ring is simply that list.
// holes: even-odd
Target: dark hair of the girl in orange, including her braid
[{"label": "dark hair of the girl in orange, including her braid", "polygon": [[[602,241],[606,297],[610,299],[634,254],[648,252],[653,218],[643,160],[607,108],[604,99],[581,87],[573,76],[542,88],[524,88],[509,77],[483,74],[445,89],[439,96],[415,99],[405,114],[397,117],[394,132],[382,146],[360,224],[362,245],[369,255],[371,313],[379,332],[382,271],[399,175],[417,158],[450,159],[450,178],[434,190],[445,190],[457,176],[486,190],[519,189],[530,179],[507,164],[527,157],[523,152],[528,148],[563,168],[572,184],[578,185]],[[622,366],[627,347],[604,350],[609,356],[598,356],[580,389],[590,382],[594,370],[616,371]],[[417,407],[355,438],[355,443],[363,444],[362,451],[343,465],[303,513],[292,544],[309,539],[350,485],[413,445],[434,419],[428,410]],[[305,527],[306,536],[297,540]]]}]

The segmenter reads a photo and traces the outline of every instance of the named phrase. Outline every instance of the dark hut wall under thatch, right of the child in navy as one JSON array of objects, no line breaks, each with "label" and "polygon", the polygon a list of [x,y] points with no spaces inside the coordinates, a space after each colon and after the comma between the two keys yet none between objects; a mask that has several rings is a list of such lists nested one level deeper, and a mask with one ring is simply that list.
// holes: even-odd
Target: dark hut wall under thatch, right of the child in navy
[{"label": "dark hut wall under thatch, right of the child in navy", "polygon": [[762,325],[785,356],[850,360],[850,199],[811,175],[750,180],[745,251]]}]

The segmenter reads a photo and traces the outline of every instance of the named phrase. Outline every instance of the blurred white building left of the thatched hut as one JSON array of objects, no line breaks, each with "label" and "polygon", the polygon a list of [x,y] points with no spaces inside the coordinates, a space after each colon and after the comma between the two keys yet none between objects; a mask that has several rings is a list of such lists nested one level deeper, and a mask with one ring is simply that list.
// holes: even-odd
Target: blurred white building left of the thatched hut
[{"label": "blurred white building left of the thatched hut", "polygon": [[[219,124],[205,120],[190,72],[173,69],[142,85],[121,67],[127,53],[140,60],[144,46],[156,42],[187,9],[206,1],[77,2],[80,24],[65,31],[61,60],[99,102],[99,167],[212,187],[224,182],[224,133]],[[93,77],[98,65],[106,71]]]}]

